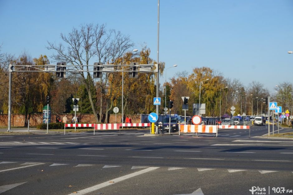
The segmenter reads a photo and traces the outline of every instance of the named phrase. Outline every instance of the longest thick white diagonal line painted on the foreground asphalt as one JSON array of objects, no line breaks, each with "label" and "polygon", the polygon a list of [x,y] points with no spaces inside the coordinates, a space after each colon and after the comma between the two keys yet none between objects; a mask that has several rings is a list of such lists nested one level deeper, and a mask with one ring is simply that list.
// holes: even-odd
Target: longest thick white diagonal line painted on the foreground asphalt
[{"label": "longest thick white diagonal line painted on the foreground asphalt", "polygon": [[98,190],[100,188],[103,188],[103,187],[112,185],[114,183],[118,183],[118,182],[123,181],[125,179],[129,179],[129,178],[135,177],[135,176],[140,175],[140,174],[147,173],[149,171],[152,171],[152,170],[155,170],[155,169],[158,169],[158,168],[160,168],[160,167],[150,167],[150,168],[147,168],[147,169],[143,169],[143,170],[137,171],[135,173],[131,173],[131,174],[128,174],[128,175],[124,175],[122,177],[118,177],[118,178],[115,178],[115,179],[111,179],[111,180],[106,181],[104,183],[100,183],[100,184],[97,184],[95,186],[92,186],[92,187],[89,187],[89,188],[85,188],[83,190],[78,191],[77,193],[71,193],[70,195],[76,195],[76,194],[82,195],[82,194],[90,193],[90,192],[93,192],[93,191]]}]

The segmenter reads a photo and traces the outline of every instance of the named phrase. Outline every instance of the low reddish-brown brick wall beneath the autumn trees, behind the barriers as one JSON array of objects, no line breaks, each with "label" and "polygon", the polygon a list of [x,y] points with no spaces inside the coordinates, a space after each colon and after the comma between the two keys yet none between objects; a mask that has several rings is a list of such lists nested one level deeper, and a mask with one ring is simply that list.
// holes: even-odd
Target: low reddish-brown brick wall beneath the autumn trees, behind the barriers
[{"label": "low reddish-brown brick wall beneath the autumn trees, behind the barriers", "polygon": [[[67,115],[68,120],[71,122],[72,118],[74,117],[74,114],[60,114],[59,116],[61,121],[65,115]],[[76,116],[79,118],[80,123],[96,123],[94,114],[76,114]],[[127,116],[128,118],[131,118],[132,123],[141,123],[140,114],[127,115]],[[104,118],[105,116],[103,116],[103,119]],[[38,124],[43,123],[43,114],[31,114],[28,116],[28,119],[30,119],[30,126],[36,126]],[[23,127],[24,120],[25,120],[24,114],[11,114],[11,127]],[[116,115],[116,120],[115,120],[115,114],[109,114],[108,120],[109,120],[109,123],[120,123],[121,114]],[[55,121],[56,121],[56,114],[52,114],[51,122],[55,123]],[[7,127],[7,125],[8,125],[8,115],[1,114],[0,127]]]}]

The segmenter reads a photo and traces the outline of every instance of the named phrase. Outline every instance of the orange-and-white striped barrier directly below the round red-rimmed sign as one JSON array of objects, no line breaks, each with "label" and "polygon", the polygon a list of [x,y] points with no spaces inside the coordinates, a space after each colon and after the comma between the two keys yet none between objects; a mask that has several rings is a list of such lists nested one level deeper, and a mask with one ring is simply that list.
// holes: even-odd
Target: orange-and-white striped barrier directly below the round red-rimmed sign
[{"label": "orange-and-white striped barrier directly below the round red-rimmed sign", "polygon": [[217,125],[180,125],[183,133],[217,133]]}]

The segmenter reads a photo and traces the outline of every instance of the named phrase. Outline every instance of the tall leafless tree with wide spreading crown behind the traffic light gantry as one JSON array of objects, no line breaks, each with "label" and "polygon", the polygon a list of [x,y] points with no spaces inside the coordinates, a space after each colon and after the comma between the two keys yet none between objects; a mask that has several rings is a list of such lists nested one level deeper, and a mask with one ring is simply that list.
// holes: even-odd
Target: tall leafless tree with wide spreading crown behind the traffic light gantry
[{"label": "tall leafless tree with wide spreading crown behind the traffic light gantry", "polygon": [[[122,35],[119,31],[107,31],[105,25],[86,24],[81,25],[79,29],[73,28],[68,35],[61,34],[61,39],[64,44],[58,45],[48,42],[47,49],[55,50],[56,54],[51,56],[55,61],[69,63],[74,66],[74,70],[79,71],[74,74],[79,74],[82,82],[89,95],[89,101],[93,114],[97,122],[98,115],[93,101],[91,86],[94,85],[92,75],[88,72],[90,70],[89,61],[96,58],[103,64],[117,63],[116,60],[120,58],[125,51],[127,51],[133,44],[129,36]],[[84,70],[86,72],[82,72]],[[73,74],[73,75],[74,75]],[[103,78],[99,83],[100,91],[100,116],[103,113],[103,99],[107,93],[109,74],[103,74]]]}]

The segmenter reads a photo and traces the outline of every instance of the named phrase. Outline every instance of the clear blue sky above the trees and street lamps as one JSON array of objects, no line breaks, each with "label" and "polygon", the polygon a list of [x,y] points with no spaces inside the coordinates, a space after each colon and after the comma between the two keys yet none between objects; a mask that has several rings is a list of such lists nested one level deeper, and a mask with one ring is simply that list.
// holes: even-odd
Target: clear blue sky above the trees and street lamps
[{"label": "clear blue sky above the trees and street lamps", "polygon": [[[157,59],[157,0],[0,0],[2,53],[50,56],[47,41],[60,43],[80,24],[106,24],[147,45]],[[252,81],[274,92],[293,82],[292,0],[161,0],[159,60],[176,71],[207,66],[223,76]],[[160,83],[165,81],[165,74]]]}]

